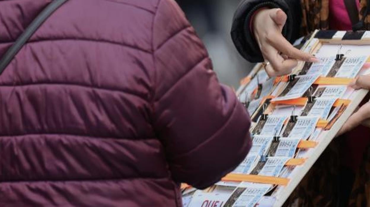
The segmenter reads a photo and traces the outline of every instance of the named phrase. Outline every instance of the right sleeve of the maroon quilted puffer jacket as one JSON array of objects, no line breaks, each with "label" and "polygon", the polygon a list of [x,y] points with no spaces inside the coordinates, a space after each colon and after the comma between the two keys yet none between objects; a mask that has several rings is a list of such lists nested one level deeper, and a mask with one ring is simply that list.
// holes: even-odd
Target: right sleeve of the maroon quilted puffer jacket
[{"label": "right sleeve of the maroon quilted puffer jacket", "polygon": [[173,0],[161,0],[153,28],[154,127],[177,182],[205,188],[247,155],[250,118],[222,86],[194,29]]}]

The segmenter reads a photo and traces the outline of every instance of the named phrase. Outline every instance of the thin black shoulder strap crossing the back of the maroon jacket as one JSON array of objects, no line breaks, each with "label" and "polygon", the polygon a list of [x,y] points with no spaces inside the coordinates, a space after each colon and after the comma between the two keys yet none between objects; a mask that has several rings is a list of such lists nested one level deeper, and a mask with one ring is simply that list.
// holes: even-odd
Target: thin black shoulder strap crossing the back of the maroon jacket
[{"label": "thin black shoulder strap crossing the back of the maroon jacket", "polygon": [[23,45],[30,39],[36,30],[44,23],[45,20],[62,4],[68,0],[53,0],[40,14],[32,21],[26,30],[18,37],[17,41],[6,51],[0,60],[0,75],[8,66],[14,56],[19,52]]}]

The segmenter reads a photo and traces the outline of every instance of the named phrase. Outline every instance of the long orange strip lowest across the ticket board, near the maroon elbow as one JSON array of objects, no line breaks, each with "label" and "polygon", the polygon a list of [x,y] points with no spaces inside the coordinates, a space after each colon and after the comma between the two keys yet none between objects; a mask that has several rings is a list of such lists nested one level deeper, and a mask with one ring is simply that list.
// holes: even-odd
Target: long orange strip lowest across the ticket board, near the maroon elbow
[{"label": "long orange strip lowest across the ticket board, near the maroon elbow", "polygon": [[249,174],[227,174],[221,179],[222,181],[246,181],[252,183],[266,183],[286,186],[289,183],[288,178],[282,177],[271,177],[271,176],[259,176],[259,175],[249,175]]}]

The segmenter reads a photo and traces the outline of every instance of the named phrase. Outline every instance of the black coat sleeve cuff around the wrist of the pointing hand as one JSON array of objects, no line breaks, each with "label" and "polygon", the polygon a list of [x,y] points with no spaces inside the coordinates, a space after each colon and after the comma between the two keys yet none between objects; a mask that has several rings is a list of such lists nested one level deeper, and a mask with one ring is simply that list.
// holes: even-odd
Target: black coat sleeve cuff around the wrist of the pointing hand
[{"label": "black coat sleeve cuff around the wrist of the pointing hand", "polygon": [[250,31],[250,20],[262,7],[280,8],[287,14],[283,36],[293,42],[299,37],[302,21],[300,0],[242,0],[236,10],[231,28],[231,38],[239,53],[250,62],[263,62],[261,50]]}]

